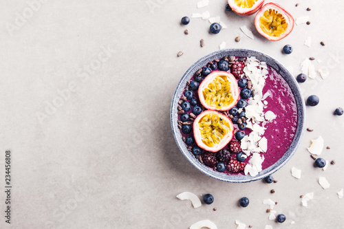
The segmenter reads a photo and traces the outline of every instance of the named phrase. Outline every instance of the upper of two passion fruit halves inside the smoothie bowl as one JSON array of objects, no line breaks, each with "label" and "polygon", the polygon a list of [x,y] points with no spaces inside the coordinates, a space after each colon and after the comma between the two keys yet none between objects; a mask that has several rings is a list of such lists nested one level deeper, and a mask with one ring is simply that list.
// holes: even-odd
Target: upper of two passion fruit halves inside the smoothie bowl
[{"label": "upper of two passion fruit halves inside the smoothie bowl", "polygon": [[214,71],[198,87],[198,96],[206,109],[227,111],[239,100],[239,86],[233,74]]}]

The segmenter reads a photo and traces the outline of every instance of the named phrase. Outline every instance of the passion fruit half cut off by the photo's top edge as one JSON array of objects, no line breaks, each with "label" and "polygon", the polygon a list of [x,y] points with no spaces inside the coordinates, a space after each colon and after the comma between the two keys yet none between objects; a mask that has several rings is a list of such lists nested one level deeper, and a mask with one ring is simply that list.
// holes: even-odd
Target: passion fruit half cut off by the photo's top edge
[{"label": "passion fruit half cut off by the photo's top edge", "polygon": [[248,16],[257,12],[263,6],[264,0],[228,0],[232,10],[242,16]]}]

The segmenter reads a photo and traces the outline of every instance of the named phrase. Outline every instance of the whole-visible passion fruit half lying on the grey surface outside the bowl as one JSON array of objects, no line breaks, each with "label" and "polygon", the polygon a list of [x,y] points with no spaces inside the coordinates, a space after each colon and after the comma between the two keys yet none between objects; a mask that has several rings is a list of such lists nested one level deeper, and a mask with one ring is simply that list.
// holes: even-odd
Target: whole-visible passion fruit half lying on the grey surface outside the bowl
[{"label": "whole-visible passion fruit half lying on the grey surface outside the bowl", "polygon": [[294,18],[281,6],[267,3],[257,13],[255,27],[266,39],[279,41],[292,32]]}]

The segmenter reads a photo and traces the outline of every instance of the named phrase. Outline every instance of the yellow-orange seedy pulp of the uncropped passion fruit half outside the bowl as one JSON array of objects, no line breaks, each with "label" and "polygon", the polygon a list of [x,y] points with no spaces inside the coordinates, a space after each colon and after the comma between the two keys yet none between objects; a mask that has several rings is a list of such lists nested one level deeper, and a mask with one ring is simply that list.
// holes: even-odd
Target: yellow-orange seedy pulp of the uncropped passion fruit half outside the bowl
[{"label": "yellow-orange seedy pulp of the uncropped passion fruit half outside the bowl", "polygon": [[260,18],[260,28],[269,36],[281,36],[286,32],[288,23],[277,10],[266,10]]}]

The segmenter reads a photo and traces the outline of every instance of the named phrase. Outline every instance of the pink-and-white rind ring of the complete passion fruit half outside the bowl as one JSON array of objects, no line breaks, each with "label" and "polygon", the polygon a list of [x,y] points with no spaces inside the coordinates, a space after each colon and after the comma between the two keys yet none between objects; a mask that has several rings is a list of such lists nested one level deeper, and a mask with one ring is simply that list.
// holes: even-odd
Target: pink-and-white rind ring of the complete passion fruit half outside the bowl
[{"label": "pink-and-white rind ring of the complete passion fruit half outside the bowl", "polygon": [[[283,17],[286,19],[286,21],[288,22],[288,29],[286,30],[286,32],[281,34],[281,36],[269,36],[260,28],[260,18],[264,15],[264,12],[266,10],[269,10],[269,9],[277,10],[277,12],[281,13],[283,15]],[[294,18],[292,17],[292,15],[289,12],[287,12],[286,10],[284,10],[281,6],[279,6],[278,4],[275,4],[275,3],[266,3],[266,5],[264,5],[259,10],[259,12],[257,12],[257,14],[255,16],[255,28],[256,28],[257,32],[259,32],[259,34],[261,34],[261,36],[264,36],[266,39],[268,39],[270,41],[280,41],[281,39],[288,36],[290,34],[290,32],[292,32],[292,29],[294,28],[294,23],[295,23],[295,21],[294,21]]]}]

